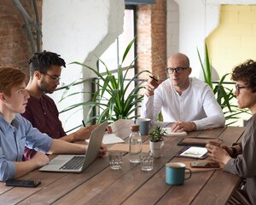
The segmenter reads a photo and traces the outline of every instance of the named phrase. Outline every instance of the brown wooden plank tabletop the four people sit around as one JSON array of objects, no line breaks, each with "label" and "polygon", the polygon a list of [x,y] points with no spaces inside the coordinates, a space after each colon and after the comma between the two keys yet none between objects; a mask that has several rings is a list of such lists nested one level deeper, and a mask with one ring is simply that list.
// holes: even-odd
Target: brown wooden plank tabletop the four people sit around
[{"label": "brown wooden plank tabletop the four people sit around", "polygon": [[[127,140],[132,121],[113,123],[113,133]],[[231,145],[240,139],[244,128],[225,127],[195,131],[188,137],[216,137]],[[181,136],[165,137],[163,156],[154,160],[154,169],[141,171],[140,164],[123,157],[123,167],[109,168],[108,157],[99,158],[82,174],[45,173],[34,170],[22,179],[39,179],[36,188],[8,187],[0,182],[0,204],[225,204],[241,179],[223,170],[193,173],[184,185],[166,185],[166,162],[184,162],[175,157],[183,146]],[[145,144],[148,137],[143,136]]]}]

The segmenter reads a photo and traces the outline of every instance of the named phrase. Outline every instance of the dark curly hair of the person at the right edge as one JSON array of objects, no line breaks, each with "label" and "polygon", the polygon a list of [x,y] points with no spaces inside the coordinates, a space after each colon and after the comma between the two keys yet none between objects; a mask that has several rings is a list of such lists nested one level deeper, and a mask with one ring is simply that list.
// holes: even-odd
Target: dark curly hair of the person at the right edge
[{"label": "dark curly hair of the person at the right edge", "polygon": [[241,65],[237,65],[232,72],[231,80],[242,81],[253,93],[256,92],[256,61],[247,60]]}]

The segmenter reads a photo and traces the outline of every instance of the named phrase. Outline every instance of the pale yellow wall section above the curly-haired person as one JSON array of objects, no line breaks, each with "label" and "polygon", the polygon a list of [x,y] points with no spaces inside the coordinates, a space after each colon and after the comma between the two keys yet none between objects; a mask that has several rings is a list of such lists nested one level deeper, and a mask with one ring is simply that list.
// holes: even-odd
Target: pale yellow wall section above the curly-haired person
[{"label": "pale yellow wall section above the curly-haired person", "polygon": [[219,26],[206,42],[219,77],[247,59],[256,60],[256,5],[222,5]]}]

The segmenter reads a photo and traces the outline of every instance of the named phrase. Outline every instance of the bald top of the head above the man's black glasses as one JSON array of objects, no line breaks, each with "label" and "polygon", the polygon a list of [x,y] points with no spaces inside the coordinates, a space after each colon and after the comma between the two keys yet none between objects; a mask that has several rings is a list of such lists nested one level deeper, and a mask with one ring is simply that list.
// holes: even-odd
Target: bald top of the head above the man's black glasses
[{"label": "bald top of the head above the man's black glasses", "polygon": [[168,61],[167,61],[168,67],[189,67],[189,58],[185,54],[177,53],[177,54],[172,54]]}]

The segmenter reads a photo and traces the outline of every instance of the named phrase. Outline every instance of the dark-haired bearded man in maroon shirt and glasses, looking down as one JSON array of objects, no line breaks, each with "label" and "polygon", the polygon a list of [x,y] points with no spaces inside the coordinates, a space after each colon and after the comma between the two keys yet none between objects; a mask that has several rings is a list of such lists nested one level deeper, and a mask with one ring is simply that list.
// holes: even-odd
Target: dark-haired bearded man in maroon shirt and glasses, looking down
[{"label": "dark-haired bearded man in maroon shirt and glasses, looking down", "polygon": [[[66,134],[59,119],[59,111],[47,94],[52,94],[60,84],[61,67],[66,63],[61,55],[49,51],[38,52],[28,60],[32,77],[26,86],[30,99],[27,101],[26,111],[22,114],[38,128],[40,132],[48,134],[53,139],[61,139],[67,142],[84,140],[90,137],[92,129],[98,125],[80,128],[71,134]],[[108,130],[111,132],[111,128]],[[26,148],[24,160],[31,159],[36,151]]]}]

